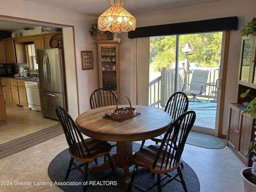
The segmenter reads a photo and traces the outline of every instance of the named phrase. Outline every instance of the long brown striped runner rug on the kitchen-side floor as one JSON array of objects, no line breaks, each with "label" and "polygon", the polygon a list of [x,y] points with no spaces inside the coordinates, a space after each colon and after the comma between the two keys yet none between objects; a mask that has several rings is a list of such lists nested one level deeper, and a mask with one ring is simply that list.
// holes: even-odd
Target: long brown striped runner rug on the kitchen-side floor
[{"label": "long brown striped runner rug on the kitchen-side floor", "polygon": [[57,124],[12,141],[0,144],[0,159],[30,148],[64,133],[61,124]]}]

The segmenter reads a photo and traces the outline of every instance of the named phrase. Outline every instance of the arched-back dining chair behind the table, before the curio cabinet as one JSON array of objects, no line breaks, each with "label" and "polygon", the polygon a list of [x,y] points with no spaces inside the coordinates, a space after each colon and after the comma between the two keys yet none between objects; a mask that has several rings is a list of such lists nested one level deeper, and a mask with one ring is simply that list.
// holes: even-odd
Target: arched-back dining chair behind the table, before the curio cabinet
[{"label": "arched-back dining chair behind the table, before the curio cabinet", "polygon": [[[94,90],[90,96],[90,106],[91,109],[116,105],[116,94],[108,88],[98,88]],[[115,147],[116,144],[113,144],[112,147]],[[104,161],[107,160],[107,157],[104,156]]]}]

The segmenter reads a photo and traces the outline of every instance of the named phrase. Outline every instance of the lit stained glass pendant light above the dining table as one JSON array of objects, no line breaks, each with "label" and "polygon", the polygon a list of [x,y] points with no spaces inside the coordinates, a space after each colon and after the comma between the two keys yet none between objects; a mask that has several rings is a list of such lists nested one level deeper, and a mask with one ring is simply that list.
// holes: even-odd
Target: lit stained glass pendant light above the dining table
[{"label": "lit stained glass pendant light above the dining table", "polygon": [[124,0],[108,0],[111,7],[99,16],[99,30],[113,33],[135,30],[136,19],[122,7],[124,2]]}]

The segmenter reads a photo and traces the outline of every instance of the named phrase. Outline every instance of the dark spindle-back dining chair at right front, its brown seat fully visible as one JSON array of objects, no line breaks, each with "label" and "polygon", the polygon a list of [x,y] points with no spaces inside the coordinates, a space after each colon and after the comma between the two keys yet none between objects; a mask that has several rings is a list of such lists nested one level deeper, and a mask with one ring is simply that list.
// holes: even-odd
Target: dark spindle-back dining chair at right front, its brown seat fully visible
[{"label": "dark spindle-back dining chair at right front, its brown seat fully visible", "polygon": [[[172,182],[172,180],[181,182],[184,191],[187,192],[186,184],[180,170],[180,164],[182,162],[182,152],[184,150],[185,142],[195,119],[196,113],[194,111],[184,112],[170,125],[170,128],[168,128],[167,132],[164,134],[161,145],[150,145],[134,154],[134,161],[136,165],[132,172],[128,192],[131,191],[132,186],[135,186],[140,191],[144,192],[157,186],[157,191],[162,192],[162,187],[166,186],[169,182]],[[181,134],[178,138],[180,129]],[[172,146],[177,147],[174,150]],[[149,186],[146,190],[134,184],[134,178],[137,174],[138,166],[148,168],[148,170],[150,170],[154,175],[157,174],[157,182]],[[173,170],[177,170],[178,173],[171,175],[170,172]],[[165,174],[165,176],[161,178],[161,174]],[[180,179],[177,178],[178,176]],[[166,180],[166,178],[168,178],[168,180]]]}]

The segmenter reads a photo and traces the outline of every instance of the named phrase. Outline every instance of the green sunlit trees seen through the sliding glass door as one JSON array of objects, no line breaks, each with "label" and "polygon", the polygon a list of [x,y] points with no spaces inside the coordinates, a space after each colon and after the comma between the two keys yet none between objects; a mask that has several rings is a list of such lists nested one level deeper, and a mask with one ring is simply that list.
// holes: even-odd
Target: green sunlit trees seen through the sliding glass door
[{"label": "green sunlit trees seen through the sliding glass door", "polygon": [[[189,62],[198,63],[202,67],[218,67],[222,32],[181,35],[180,46],[183,42],[192,42],[196,46],[194,54],[189,56]],[[175,54],[176,36],[150,38],[150,68],[154,68],[154,71],[161,71],[163,67],[170,68],[175,62]],[[179,60],[184,60],[181,53]]]}]

